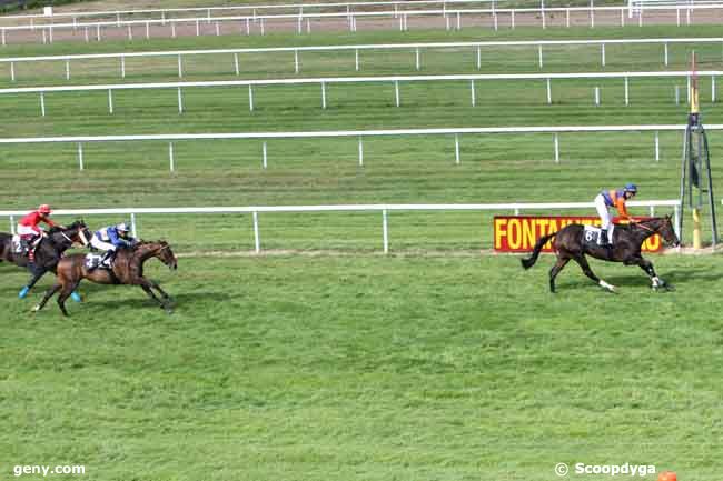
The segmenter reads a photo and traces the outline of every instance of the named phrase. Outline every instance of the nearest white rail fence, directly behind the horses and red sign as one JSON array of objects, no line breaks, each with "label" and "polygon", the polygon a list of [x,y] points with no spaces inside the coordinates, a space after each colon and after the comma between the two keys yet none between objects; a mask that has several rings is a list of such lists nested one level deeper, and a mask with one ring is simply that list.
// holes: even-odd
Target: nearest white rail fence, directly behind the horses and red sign
[{"label": "nearest white rail fence, directly behind the horses and red sign", "polygon": [[[631,207],[646,207],[650,214],[655,216],[655,208],[672,207],[674,209],[674,226],[680,226],[680,200],[631,201]],[[396,211],[522,211],[551,210],[595,210],[594,202],[547,202],[547,203],[453,203],[453,204],[357,204],[357,206],[277,206],[277,207],[207,207],[207,208],[135,208],[135,209],[62,209],[55,211],[56,216],[130,216],[133,237],[138,237],[137,216],[140,214],[251,214],[254,222],[254,251],[261,252],[261,234],[259,213],[274,212],[379,212],[382,214],[382,247],[384,253],[389,252],[389,220],[388,213]],[[14,234],[16,218],[24,216],[24,211],[0,211],[0,217],[10,218],[10,229]]]}]

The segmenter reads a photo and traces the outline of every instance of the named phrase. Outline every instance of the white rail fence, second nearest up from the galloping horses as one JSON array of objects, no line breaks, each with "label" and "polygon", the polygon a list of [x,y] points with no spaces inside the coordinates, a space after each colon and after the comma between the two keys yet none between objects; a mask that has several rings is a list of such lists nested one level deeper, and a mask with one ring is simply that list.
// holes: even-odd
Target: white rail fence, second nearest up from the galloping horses
[{"label": "white rail fence, second nearest up from the galloping horses", "polygon": [[[455,164],[462,163],[462,149],[459,137],[463,134],[521,134],[521,133],[552,133],[554,146],[554,160],[559,163],[559,134],[581,132],[654,132],[654,157],[660,161],[660,132],[684,132],[684,124],[650,124],[650,126],[556,126],[556,127],[478,127],[478,128],[446,128],[446,129],[397,129],[397,130],[339,130],[315,132],[239,132],[239,133],[162,133],[143,136],[70,136],[70,137],[24,137],[0,138],[0,144],[31,144],[31,143],[76,143],[78,146],[78,169],[86,169],[83,143],[97,142],[129,142],[129,141],[168,141],[169,170],[177,170],[174,142],[185,140],[234,140],[258,139],[263,140],[261,167],[268,167],[267,141],[269,139],[324,139],[324,138],[354,138],[357,139],[358,164],[364,167],[364,139],[374,137],[403,137],[403,136],[454,136]],[[707,131],[723,130],[723,124],[707,124]]]}]

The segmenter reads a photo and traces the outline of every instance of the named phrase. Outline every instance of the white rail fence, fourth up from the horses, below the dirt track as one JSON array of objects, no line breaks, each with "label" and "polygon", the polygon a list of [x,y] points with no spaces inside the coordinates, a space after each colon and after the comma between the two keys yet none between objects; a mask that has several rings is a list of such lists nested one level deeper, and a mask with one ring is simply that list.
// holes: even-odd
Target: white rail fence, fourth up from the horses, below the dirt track
[{"label": "white rail fence, fourth up from the horses, below the dirt track", "polygon": [[[172,51],[152,51],[152,52],[119,52],[119,53],[87,53],[87,54],[68,54],[68,56],[39,56],[39,57],[4,57],[0,58],[0,63],[10,64],[10,80],[16,81],[19,77],[18,67],[16,64],[34,63],[34,62],[60,62],[66,63],[66,80],[71,78],[71,61],[79,60],[118,60],[118,74],[120,78],[126,78],[127,69],[126,61],[129,59],[148,58],[148,57],[172,57],[178,60],[178,77],[184,77],[184,58],[194,56],[230,56],[229,71],[235,72],[237,76],[241,72],[240,54],[254,53],[293,53],[290,57],[290,66],[294,67],[295,73],[299,73],[303,67],[301,54],[305,52],[341,52],[354,51],[354,66],[355,70],[359,71],[361,62],[359,53],[369,50],[407,50],[414,52],[414,64],[416,70],[420,70],[423,66],[422,53],[423,50],[434,49],[476,49],[476,68],[482,68],[482,52],[483,49],[492,48],[519,48],[519,47],[534,47],[537,49],[537,67],[544,67],[544,52],[543,48],[554,47],[581,47],[581,46],[595,46],[600,47],[600,61],[601,66],[607,64],[608,56],[606,54],[606,46],[635,46],[635,44],[660,44],[663,47],[661,60],[664,66],[670,64],[670,46],[671,44],[704,44],[704,43],[720,43],[723,46],[723,37],[720,38],[662,38],[662,39],[601,39],[601,40],[519,40],[519,41],[486,41],[486,42],[434,42],[434,43],[379,43],[379,44],[356,44],[356,46],[298,46],[298,47],[271,47],[271,48],[246,48],[246,49],[216,49],[216,50],[172,50]],[[230,69],[232,67],[232,69]]]}]

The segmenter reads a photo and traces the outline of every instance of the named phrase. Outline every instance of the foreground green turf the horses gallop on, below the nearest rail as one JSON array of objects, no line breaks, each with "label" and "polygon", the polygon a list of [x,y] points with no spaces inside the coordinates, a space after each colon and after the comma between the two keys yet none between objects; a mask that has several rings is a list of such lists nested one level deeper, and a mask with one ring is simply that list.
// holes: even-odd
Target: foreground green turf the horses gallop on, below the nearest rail
[{"label": "foreground green turf the horses gallop on, below the nearest rail", "polygon": [[655,258],[668,293],[594,263],[616,297],[576,267],[548,294],[551,263],[181,259],[149,270],[172,315],[137,288],[81,285],[67,320],[11,300],[23,275],[3,267],[2,471],[542,481],[557,462],[630,462],[713,479],[721,325],[702,299],[721,260]]}]

